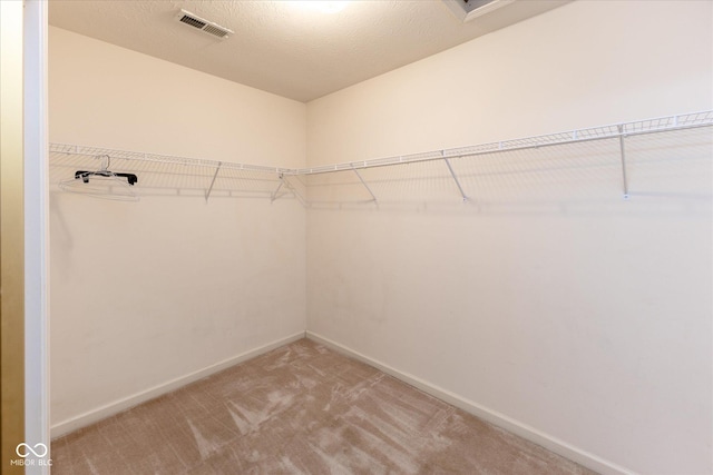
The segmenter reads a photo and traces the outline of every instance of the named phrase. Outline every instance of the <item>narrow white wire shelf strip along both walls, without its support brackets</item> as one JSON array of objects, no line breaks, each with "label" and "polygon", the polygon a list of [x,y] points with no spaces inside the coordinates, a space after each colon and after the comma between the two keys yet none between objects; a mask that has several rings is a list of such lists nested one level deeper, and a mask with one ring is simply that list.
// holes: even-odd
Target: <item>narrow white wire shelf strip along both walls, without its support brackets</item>
[{"label": "narrow white wire shelf strip along both walls, without its support brackets", "polygon": [[[394,157],[377,158],[371,160],[351,161],[336,165],[324,165],[307,168],[281,168],[266,167],[260,165],[235,164],[229,161],[206,160],[197,158],[186,158],[168,155],[157,155],[126,150],[113,150],[97,147],[85,147],[67,144],[50,144],[49,151],[52,154],[99,156],[109,155],[114,158],[127,160],[150,161],[158,164],[173,164],[194,167],[211,167],[222,170],[245,170],[264,174],[275,174],[277,176],[300,176],[318,175],[334,171],[354,171],[363,168],[387,167],[393,165],[413,164],[419,161],[448,160],[459,157],[473,157],[478,155],[497,154],[504,151],[524,150],[531,148],[551,147],[593,140],[614,139],[645,133],[656,133],[664,131],[691,129],[697,127],[713,126],[713,110],[682,113],[676,116],[660,117],[655,119],[622,122],[609,126],[576,129],[564,132],[548,133],[543,136],[526,137],[512,140],[481,144],[469,147],[433,150],[421,154],[402,155]],[[450,164],[448,164],[450,165]]]}]

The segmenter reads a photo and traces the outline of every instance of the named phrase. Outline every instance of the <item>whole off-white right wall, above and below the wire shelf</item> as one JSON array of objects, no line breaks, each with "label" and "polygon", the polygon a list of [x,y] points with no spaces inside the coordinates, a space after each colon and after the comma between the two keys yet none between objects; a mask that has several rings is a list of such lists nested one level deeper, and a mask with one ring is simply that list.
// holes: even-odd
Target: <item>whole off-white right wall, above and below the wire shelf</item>
[{"label": "whole off-white right wall, above and below the wire shelf", "polygon": [[[578,1],[315,100],[309,165],[711,109],[712,7]],[[631,139],[629,200],[614,142],[461,166],[475,202],[446,212],[309,210],[307,329],[602,471],[713,472],[711,144],[686,137]],[[365,178],[458,202],[409,167]]]}]

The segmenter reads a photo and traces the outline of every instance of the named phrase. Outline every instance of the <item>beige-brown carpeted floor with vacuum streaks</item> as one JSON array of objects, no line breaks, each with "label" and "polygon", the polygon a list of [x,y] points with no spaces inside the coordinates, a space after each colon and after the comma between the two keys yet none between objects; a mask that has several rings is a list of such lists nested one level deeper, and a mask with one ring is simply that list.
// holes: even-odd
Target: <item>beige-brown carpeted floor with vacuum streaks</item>
[{"label": "beige-brown carpeted floor with vacuum streaks", "polygon": [[309,339],[51,445],[52,474],[590,474]]}]

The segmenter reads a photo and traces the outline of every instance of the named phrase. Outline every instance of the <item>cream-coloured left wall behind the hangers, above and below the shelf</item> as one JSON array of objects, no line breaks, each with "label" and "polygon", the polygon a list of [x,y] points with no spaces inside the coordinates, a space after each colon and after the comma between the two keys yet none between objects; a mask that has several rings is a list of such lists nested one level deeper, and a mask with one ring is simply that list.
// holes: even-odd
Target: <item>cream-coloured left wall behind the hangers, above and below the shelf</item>
[{"label": "cream-coloured left wall behind the hangers, above and below the shelf", "polygon": [[[301,102],[57,28],[49,79],[51,142],[304,164]],[[53,436],[304,331],[295,200],[50,201]]]}]

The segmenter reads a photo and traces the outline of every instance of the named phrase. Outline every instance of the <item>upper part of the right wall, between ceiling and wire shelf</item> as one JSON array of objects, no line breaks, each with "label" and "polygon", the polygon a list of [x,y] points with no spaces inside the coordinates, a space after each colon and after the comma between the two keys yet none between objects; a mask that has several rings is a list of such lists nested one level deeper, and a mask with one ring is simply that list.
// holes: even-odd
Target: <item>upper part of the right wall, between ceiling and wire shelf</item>
[{"label": "upper part of the right wall, between ceiling and wire shelf", "polygon": [[577,1],[312,101],[309,162],[704,108],[712,95],[705,3]]}]

